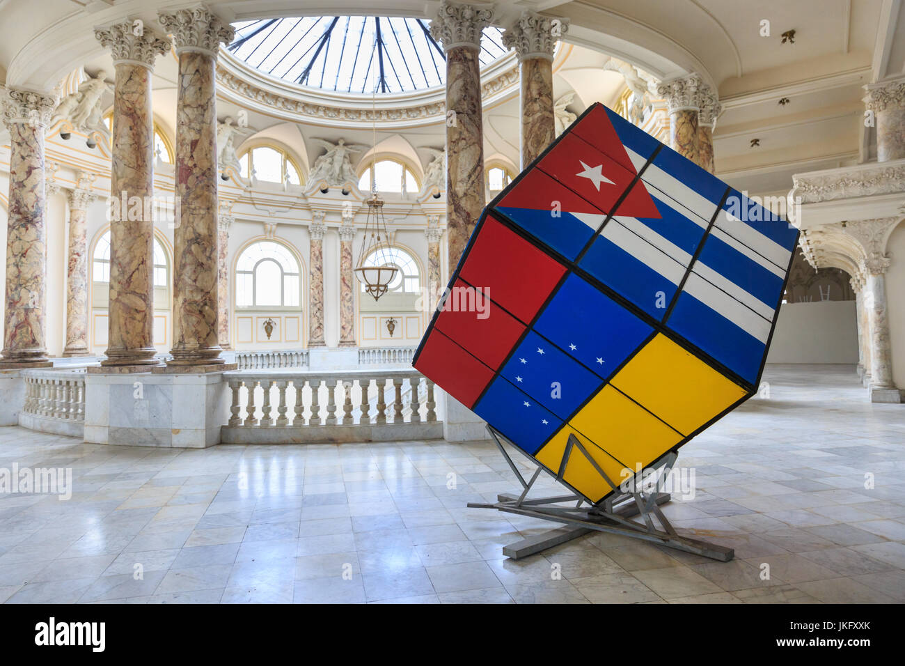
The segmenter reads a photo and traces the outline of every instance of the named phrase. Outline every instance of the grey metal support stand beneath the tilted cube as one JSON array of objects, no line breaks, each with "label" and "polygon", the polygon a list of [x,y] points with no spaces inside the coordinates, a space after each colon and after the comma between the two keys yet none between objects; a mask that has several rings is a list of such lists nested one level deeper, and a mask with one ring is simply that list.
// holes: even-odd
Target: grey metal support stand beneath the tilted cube
[{"label": "grey metal support stand beneath the tilted cube", "polygon": [[[549,520],[554,523],[563,523],[563,527],[550,530],[536,536],[529,536],[514,544],[503,547],[503,555],[518,560],[522,557],[534,555],[542,550],[551,548],[554,545],[564,544],[567,541],[586,535],[592,531],[610,532],[624,536],[631,536],[636,539],[652,541],[653,543],[664,545],[668,548],[675,548],[686,553],[694,553],[695,555],[703,555],[720,562],[729,562],[735,555],[732,548],[726,548],[721,545],[710,544],[706,541],[691,539],[686,536],[679,536],[675,528],[672,527],[670,521],[663,516],[660,505],[670,501],[668,493],[660,492],[662,490],[663,479],[666,478],[672,466],[675,464],[678,454],[670,451],[668,454],[658,460],[651,468],[647,470],[655,471],[661,469],[658,473],[656,487],[653,492],[644,492],[637,489],[637,476],[635,481],[631,483],[631,487],[621,487],[614,484],[613,480],[606,476],[603,469],[597,465],[581,442],[575,435],[569,435],[566,451],[563,455],[557,472],[557,481],[563,480],[566,472],[568,459],[575,455],[577,450],[584,455],[595,471],[606,481],[607,485],[613,489],[613,492],[605,497],[605,499],[591,504],[585,497],[579,496],[575,492],[568,495],[557,497],[538,497],[528,498],[529,491],[534,483],[538,480],[541,470],[539,467],[529,480],[525,480],[519,468],[512,462],[509,453],[502,445],[501,439],[509,441],[491,426],[487,427],[491,437],[506,458],[510,468],[519,479],[522,491],[516,496],[508,493],[497,496],[498,501],[493,504],[481,504],[469,502],[469,507],[474,508],[495,508],[498,511],[519,514],[519,516],[531,516],[542,520]],[[510,442],[511,444],[511,442]],[[520,451],[518,447],[513,448]],[[529,458],[530,459],[530,458]],[[533,461],[533,460],[532,460]],[[569,504],[574,503],[574,506]],[[583,506],[585,505],[585,506]],[[640,515],[643,523],[632,520],[633,516]],[[654,518],[660,524],[660,528],[654,525]]]}]

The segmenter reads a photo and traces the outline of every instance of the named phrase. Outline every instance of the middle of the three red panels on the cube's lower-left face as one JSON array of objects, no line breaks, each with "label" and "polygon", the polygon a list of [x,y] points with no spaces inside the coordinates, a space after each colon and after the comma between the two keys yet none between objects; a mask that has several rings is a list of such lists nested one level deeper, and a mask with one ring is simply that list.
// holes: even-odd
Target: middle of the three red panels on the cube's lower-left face
[{"label": "middle of the three red panels on the cube's lower-left face", "polygon": [[434,324],[493,370],[500,368],[525,327],[491,299],[456,280]]}]

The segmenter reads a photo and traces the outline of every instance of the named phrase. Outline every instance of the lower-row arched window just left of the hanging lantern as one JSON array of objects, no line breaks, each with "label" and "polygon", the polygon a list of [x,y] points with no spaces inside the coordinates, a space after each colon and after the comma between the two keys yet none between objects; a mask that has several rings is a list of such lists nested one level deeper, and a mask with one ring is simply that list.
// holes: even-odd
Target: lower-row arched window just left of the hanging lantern
[{"label": "lower-row arched window just left of the hanging lantern", "polygon": [[239,256],[236,307],[298,307],[300,290],[299,262],[286,246],[262,240]]}]

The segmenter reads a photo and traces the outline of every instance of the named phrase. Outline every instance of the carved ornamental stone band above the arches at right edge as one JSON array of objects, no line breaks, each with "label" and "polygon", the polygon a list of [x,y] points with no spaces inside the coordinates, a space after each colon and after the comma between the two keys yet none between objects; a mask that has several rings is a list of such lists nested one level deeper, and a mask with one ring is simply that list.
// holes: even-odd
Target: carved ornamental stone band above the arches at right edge
[{"label": "carved ornamental stone band above the arches at right edge", "polygon": [[841,198],[870,197],[905,192],[905,163],[870,164],[797,174],[792,177],[792,198],[804,204]]}]

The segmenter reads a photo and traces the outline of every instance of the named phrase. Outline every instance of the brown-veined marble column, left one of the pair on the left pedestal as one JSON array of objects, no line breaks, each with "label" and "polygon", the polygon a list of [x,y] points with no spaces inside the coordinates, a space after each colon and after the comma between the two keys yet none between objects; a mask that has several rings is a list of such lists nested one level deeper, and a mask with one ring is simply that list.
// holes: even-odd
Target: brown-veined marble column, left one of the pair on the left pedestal
[{"label": "brown-veined marble column, left one of the pair on the left pedestal", "polygon": [[[110,144],[110,305],[105,367],[157,365],[154,355],[154,220],[150,207],[133,215],[130,202],[154,197],[154,121],[151,76],[169,42],[147,27],[138,36],[132,24],[97,29],[116,67],[113,136]],[[137,217],[137,219],[133,219]]]}]

